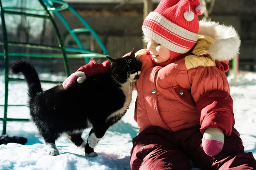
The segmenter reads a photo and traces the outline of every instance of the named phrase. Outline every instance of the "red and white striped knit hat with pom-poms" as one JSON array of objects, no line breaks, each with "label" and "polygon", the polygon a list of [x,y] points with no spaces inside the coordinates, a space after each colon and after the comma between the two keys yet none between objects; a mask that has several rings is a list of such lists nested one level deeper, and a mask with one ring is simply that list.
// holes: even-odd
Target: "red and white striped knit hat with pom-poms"
[{"label": "red and white striped knit hat with pom-poms", "polygon": [[195,45],[199,29],[197,15],[204,11],[200,0],[161,0],[145,18],[142,30],[145,37],[168,48],[173,59]]}]

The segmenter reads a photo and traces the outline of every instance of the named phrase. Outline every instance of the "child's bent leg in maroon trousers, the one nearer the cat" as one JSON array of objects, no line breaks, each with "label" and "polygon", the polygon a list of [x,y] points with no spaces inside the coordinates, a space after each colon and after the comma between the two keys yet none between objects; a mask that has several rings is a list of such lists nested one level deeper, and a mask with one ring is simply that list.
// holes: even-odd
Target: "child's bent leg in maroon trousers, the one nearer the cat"
[{"label": "child's bent leg in maroon trousers, the one nearer the cat", "polygon": [[171,132],[149,127],[133,139],[131,170],[191,170],[189,158],[177,148]]}]

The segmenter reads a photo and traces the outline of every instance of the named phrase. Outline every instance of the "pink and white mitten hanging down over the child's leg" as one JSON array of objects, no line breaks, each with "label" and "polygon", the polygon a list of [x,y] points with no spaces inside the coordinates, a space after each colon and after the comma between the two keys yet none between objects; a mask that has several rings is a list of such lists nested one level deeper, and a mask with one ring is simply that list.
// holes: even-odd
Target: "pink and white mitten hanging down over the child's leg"
[{"label": "pink and white mitten hanging down over the child's leg", "polygon": [[221,152],[224,145],[224,133],[217,128],[208,128],[203,136],[204,152],[209,156],[215,156]]}]

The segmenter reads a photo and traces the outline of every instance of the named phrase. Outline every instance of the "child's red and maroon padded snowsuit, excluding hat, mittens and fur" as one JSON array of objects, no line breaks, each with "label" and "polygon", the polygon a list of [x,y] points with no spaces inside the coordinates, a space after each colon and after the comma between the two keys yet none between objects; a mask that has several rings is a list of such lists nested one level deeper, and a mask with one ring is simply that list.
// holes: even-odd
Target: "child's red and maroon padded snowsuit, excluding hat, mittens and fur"
[{"label": "child's red and maroon padded snowsuit, excluding hat, mittens and fur", "polygon": [[[256,160],[251,152],[244,153],[233,127],[233,100],[223,72],[228,65],[208,55],[214,43],[201,35],[192,51],[161,65],[146,50],[136,53],[143,69],[136,85],[134,119],[140,133],[133,139],[132,170],[190,170],[189,159],[203,170],[256,168]],[[90,62],[78,71],[90,76],[108,68],[108,62]],[[225,133],[221,153],[212,157],[202,148],[203,133],[209,127]]]}]

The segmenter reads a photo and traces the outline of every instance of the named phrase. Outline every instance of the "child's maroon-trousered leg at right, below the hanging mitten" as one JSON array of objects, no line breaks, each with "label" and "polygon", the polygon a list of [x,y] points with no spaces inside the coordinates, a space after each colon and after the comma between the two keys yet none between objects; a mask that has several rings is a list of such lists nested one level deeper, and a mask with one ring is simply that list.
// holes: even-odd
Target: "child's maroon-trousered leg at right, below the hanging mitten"
[{"label": "child's maroon-trousered leg at right, below the hanging mitten", "polygon": [[[201,169],[218,169],[218,170],[252,170],[256,168],[256,161],[252,153],[244,153],[242,140],[237,135],[237,131],[233,128],[230,136],[225,136],[224,147],[216,156],[208,156],[202,148],[203,135],[199,128],[191,129],[191,137],[185,139],[182,143],[183,150],[187,150],[189,157],[195,166]],[[184,134],[180,134],[184,136]]]}]

